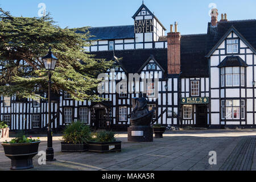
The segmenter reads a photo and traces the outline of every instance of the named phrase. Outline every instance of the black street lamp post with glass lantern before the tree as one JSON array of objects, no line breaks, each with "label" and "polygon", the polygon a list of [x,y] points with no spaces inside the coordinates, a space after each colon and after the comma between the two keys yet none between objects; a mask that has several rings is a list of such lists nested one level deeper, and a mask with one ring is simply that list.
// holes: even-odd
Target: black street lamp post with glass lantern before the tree
[{"label": "black street lamp post with glass lantern before the tree", "polygon": [[52,54],[51,47],[49,47],[48,55],[44,56],[44,67],[48,71],[48,132],[47,132],[47,148],[46,148],[46,160],[52,161],[54,159],[54,151],[52,148],[52,128],[51,128],[51,77],[52,71],[55,68],[57,58]]}]

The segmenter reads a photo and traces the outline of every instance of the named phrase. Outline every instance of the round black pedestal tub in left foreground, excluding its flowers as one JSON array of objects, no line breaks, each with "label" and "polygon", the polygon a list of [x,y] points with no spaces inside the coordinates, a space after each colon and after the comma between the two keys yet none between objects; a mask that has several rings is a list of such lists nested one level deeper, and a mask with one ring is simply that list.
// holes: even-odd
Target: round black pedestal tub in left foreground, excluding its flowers
[{"label": "round black pedestal tub in left foreground, excluding its flowers", "polygon": [[39,143],[2,143],[5,155],[11,159],[11,169],[34,168],[32,158],[38,154]]}]

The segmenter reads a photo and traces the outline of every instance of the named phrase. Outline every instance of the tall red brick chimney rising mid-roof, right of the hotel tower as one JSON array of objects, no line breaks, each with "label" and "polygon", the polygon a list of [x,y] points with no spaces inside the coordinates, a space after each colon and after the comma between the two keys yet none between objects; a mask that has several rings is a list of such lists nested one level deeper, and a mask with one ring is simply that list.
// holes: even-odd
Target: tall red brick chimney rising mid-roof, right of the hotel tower
[{"label": "tall red brick chimney rising mid-roof, right of the hotel tower", "polygon": [[177,32],[177,22],[175,22],[175,32],[167,34],[167,57],[168,74],[180,74],[180,32]]}]

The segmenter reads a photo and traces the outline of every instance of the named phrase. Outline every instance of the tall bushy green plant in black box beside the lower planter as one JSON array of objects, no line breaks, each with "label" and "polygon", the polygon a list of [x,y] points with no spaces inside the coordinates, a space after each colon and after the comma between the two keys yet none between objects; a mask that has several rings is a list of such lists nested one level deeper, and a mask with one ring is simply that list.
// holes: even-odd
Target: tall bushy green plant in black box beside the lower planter
[{"label": "tall bushy green plant in black box beside the lower planter", "polygon": [[64,129],[61,152],[85,152],[90,140],[90,127],[77,121],[67,125]]}]

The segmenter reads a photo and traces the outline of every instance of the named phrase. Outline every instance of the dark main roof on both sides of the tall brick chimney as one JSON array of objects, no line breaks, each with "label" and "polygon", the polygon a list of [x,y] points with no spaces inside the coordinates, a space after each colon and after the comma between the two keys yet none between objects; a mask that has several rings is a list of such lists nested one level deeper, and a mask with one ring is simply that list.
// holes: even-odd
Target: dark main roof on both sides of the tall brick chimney
[{"label": "dark main roof on both sides of the tall brick chimney", "polygon": [[[196,40],[196,41],[195,41]],[[181,76],[208,77],[208,60],[205,57],[205,46],[202,44],[205,35],[187,35],[181,38]],[[128,73],[138,73],[150,56],[158,62],[167,73],[167,48],[129,49],[115,51],[119,64]],[[96,59],[113,59],[113,51],[90,52]]]}]

